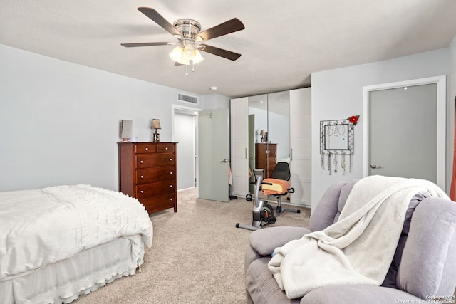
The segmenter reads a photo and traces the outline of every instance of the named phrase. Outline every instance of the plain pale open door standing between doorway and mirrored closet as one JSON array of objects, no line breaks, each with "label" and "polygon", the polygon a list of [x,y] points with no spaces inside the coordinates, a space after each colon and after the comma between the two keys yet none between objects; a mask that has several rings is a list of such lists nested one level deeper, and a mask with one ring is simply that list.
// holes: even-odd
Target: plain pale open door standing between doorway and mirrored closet
[{"label": "plain pale open door standing between doorway and mirrored closet", "polygon": [[198,197],[229,201],[228,109],[205,110],[198,116]]}]

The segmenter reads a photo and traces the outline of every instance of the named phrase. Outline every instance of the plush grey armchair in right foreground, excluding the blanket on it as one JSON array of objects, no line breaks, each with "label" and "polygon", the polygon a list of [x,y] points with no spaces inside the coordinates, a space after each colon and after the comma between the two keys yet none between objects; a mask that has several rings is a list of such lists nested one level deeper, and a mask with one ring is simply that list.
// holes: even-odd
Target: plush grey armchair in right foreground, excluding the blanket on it
[{"label": "plush grey armchair in right foreground, excluding the blanket on it", "polygon": [[337,221],[355,182],[337,182],[328,188],[309,229],[282,226],[252,232],[245,255],[247,303],[437,303],[432,300],[439,298],[456,303],[456,203],[423,194],[410,201],[383,285],[333,285],[312,290],[303,298],[286,298],[268,269],[271,253]]}]

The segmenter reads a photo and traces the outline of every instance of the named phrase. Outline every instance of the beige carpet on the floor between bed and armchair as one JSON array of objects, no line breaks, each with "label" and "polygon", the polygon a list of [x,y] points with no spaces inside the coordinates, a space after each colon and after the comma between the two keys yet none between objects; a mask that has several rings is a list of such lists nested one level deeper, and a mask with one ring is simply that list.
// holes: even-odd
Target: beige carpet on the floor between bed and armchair
[{"label": "beige carpet on the floor between bed and armchair", "polygon": [[[75,304],[86,303],[245,303],[244,251],[252,231],[252,202],[196,199],[195,190],[177,193],[172,209],[150,215],[152,248],[142,271],[120,278]],[[310,210],[285,212],[272,226],[309,226]]]}]

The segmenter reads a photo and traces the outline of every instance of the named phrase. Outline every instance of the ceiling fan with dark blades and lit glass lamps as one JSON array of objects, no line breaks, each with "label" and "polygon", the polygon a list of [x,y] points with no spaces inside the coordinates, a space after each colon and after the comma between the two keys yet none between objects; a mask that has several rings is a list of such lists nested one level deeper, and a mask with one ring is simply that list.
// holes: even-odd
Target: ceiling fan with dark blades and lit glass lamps
[{"label": "ceiling fan with dark blades and lit glass lamps", "polygon": [[201,31],[201,25],[192,19],[179,19],[174,23],[169,23],[162,15],[158,14],[155,9],[150,7],[138,7],[138,10],[145,16],[155,21],[159,26],[171,33],[177,38],[177,43],[172,42],[142,42],[142,43],[121,43],[126,48],[138,46],[172,46],[178,44],[172,49],[170,57],[175,61],[175,65],[195,65],[201,62],[202,58],[199,51],[211,53],[216,56],[227,58],[235,61],[241,54],[227,51],[222,48],[208,46],[202,41],[234,33],[243,30],[244,24],[237,18],[233,18],[217,26]]}]

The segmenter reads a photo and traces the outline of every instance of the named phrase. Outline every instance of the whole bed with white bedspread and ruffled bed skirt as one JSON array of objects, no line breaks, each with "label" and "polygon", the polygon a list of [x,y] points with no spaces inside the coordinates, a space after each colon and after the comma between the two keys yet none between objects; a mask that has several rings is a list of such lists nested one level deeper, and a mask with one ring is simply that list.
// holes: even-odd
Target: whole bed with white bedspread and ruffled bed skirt
[{"label": "whole bed with white bedspread and ruffled bed skirt", "polygon": [[134,275],[152,246],[144,206],[64,185],[0,192],[0,303],[70,303]]}]

